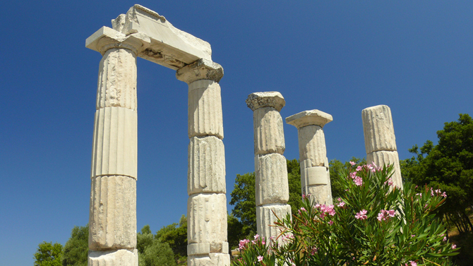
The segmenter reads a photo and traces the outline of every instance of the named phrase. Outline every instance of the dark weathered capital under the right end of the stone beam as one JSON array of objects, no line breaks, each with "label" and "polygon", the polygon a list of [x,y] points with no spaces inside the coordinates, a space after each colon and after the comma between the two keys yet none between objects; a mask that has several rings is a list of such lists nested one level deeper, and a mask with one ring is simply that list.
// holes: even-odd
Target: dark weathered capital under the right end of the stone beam
[{"label": "dark weathered capital under the right end of the stone beam", "polygon": [[191,84],[196,80],[213,80],[218,83],[222,77],[222,66],[208,59],[198,59],[176,71],[176,78],[187,84]]}]

